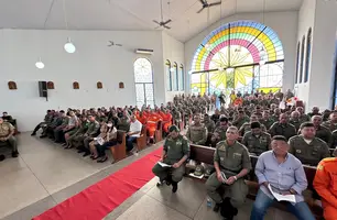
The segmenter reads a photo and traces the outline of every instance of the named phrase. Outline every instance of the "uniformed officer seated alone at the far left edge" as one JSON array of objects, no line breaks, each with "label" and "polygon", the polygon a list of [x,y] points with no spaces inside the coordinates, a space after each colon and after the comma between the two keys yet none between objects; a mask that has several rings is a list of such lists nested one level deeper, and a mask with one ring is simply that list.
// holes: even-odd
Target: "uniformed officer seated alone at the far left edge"
[{"label": "uniformed officer seated alone at the far left edge", "polygon": [[17,139],[13,136],[15,128],[0,117],[0,143],[8,143],[12,147],[12,157],[18,157],[19,152]]}]

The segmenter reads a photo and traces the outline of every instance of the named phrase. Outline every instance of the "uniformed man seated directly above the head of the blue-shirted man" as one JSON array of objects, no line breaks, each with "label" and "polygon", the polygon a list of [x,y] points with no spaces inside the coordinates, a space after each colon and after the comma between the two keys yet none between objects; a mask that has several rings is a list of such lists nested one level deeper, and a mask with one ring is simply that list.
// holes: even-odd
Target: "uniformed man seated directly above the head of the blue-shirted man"
[{"label": "uniformed man seated directly above the head of the blue-shirted man", "polygon": [[296,129],[293,124],[289,123],[289,118],[285,113],[281,113],[279,118],[279,122],[275,122],[269,131],[271,136],[282,135],[285,136],[286,140],[296,135]]}]

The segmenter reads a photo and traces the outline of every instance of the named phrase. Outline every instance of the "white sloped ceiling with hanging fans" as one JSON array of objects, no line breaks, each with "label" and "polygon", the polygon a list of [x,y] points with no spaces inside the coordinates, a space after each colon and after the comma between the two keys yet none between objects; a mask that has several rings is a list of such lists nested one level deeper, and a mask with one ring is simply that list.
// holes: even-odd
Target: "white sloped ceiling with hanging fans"
[{"label": "white sloped ceiling with hanging fans", "polygon": [[[173,20],[167,33],[182,42],[236,11],[259,12],[263,6],[264,11],[298,10],[302,4],[302,0],[222,0],[221,7],[209,9],[208,20],[207,9],[196,13],[199,0],[167,1],[163,0],[164,20]],[[63,30],[64,9],[72,30],[154,30],[152,20],[161,20],[160,0],[0,0],[0,29]]]}]

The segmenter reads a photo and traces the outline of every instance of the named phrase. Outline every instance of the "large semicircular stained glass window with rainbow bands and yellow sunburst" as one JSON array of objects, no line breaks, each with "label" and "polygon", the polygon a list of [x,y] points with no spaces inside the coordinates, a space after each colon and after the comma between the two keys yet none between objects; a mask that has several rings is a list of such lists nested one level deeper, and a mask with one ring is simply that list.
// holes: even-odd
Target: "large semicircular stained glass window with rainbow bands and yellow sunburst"
[{"label": "large semicircular stained glass window with rainbow bands and yellow sunburst", "polygon": [[272,29],[253,21],[227,23],[196,50],[191,89],[202,94],[276,90],[282,87],[283,62],[282,43]]}]

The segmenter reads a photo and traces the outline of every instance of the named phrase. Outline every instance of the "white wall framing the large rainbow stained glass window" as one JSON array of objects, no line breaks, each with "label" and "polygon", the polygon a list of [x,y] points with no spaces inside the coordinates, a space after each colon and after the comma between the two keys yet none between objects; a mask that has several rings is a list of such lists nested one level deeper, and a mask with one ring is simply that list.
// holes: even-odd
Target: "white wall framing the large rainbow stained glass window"
[{"label": "white wall framing the large rainbow stained glass window", "polygon": [[[238,21],[238,20],[252,20],[264,23],[265,25],[273,29],[279,35],[284,50],[284,77],[283,77],[283,89],[294,87],[294,69],[296,58],[296,38],[297,38],[297,11],[287,12],[268,12],[264,13],[264,22],[262,13],[242,13],[233,16],[226,18],[215,24],[210,25],[192,40],[185,43],[185,61],[186,72],[191,70],[192,59],[194,53],[202,41],[215,29],[221,24]],[[189,79],[187,79],[189,80]],[[189,91],[189,85],[187,91]]]}]

